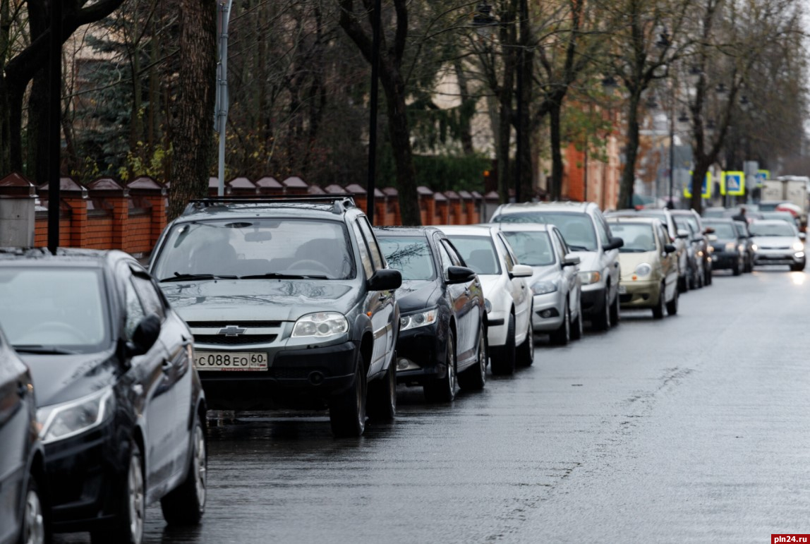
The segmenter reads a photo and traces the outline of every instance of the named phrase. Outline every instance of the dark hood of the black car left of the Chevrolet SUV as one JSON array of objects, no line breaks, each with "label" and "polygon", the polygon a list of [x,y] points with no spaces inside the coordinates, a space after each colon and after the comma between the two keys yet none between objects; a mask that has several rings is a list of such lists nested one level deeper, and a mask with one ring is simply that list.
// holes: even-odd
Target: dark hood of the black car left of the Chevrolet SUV
[{"label": "dark hood of the black car left of the Chevrolet SUV", "polygon": [[80,355],[20,354],[31,368],[36,406],[68,402],[113,385],[122,372],[113,351]]}]

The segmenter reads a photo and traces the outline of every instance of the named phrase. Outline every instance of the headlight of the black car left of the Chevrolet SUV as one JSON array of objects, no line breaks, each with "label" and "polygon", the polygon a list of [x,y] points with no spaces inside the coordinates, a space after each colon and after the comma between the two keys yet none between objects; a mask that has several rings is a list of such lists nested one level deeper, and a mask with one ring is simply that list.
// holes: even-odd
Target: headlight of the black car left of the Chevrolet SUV
[{"label": "headlight of the black car left of the Chevrolet SUV", "polygon": [[43,406],[36,410],[40,440],[49,444],[98,427],[113,411],[113,389],[107,388],[75,401]]}]

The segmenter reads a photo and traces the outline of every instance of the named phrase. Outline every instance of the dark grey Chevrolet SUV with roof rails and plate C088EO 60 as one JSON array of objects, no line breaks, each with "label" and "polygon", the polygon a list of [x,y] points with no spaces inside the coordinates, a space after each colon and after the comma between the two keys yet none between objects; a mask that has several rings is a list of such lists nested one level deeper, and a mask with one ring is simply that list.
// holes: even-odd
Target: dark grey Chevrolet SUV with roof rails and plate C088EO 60
[{"label": "dark grey Chevrolet SUV with roof rails and plate C088EO 60", "polygon": [[335,436],[360,436],[367,406],[394,417],[402,276],[351,195],[192,201],[150,270],[194,332],[209,407],[328,407]]}]

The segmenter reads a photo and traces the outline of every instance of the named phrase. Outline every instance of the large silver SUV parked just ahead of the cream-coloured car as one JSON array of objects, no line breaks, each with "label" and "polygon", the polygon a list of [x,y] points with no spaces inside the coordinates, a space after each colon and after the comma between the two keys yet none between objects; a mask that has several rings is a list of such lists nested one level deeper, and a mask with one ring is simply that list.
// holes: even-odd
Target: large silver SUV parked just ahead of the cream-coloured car
[{"label": "large silver SUV parked just ahead of the cream-coloured car", "polygon": [[599,206],[593,202],[527,202],[501,204],[491,223],[555,225],[572,255],[579,257],[582,313],[595,329],[607,330],[619,321],[619,248]]}]

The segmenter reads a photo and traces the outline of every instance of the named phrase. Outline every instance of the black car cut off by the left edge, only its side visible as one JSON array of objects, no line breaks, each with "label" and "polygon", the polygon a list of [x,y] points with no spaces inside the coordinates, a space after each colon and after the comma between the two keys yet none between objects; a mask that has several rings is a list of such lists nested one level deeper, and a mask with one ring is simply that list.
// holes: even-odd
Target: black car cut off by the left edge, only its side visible
[{"label": "black car cut off by the left edge, only its side visible", "polygon": [[0,542],[45,542],[45,478],[31,374],[0,333]]}]

